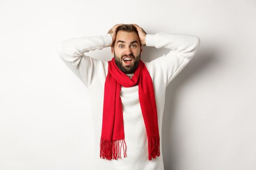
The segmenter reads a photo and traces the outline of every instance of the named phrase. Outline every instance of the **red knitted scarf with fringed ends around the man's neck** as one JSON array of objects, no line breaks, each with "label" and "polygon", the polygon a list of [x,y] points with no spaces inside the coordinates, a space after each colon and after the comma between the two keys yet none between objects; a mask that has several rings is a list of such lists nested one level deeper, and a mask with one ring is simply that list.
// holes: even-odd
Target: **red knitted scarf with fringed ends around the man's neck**
[{"label": "red knitted scarf with fringed ends around the man's neck", "polygon": [[138,85],[139,103],[148,138],[148,160],[155,159],[160,155],[158,115],[154,87],[148,69],[140,60],[138,68],[130,79],[117,67],[114,57],[108,61],[108,74],[104,87],[100,158],[108,160],[121,158],[122,146],[124,157],[127,156],[122,102],[119,96],[121,85],[124,87]]}]

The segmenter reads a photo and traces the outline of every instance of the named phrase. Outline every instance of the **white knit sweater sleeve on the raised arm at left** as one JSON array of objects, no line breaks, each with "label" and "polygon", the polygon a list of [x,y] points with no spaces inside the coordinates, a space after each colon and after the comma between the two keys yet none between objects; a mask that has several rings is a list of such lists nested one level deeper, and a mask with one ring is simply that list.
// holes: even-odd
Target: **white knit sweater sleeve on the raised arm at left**
[{"label": "white knit sweater sleeve on the raised arm at left", "polygon": [[[86,55],[85,52],[101,50],[110,47],[112,36],[97,35],[64,40],[57,45],[60,58],[88,88],[98,74],[105,72],[104,64],[96,58]],[[85,54],[84,54],[85,53]],[[106,64],[105,64],[106,65]]]}]

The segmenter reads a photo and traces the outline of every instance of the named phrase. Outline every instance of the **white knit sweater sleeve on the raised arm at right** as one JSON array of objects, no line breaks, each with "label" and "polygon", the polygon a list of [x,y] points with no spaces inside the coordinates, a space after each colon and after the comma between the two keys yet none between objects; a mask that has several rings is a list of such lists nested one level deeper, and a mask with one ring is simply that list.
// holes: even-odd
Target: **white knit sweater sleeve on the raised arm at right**
[{"label": "white knit sweater sleeve on the raised arm at right", "polygon": [[152,75],[167,86],[196,54],[200,39],[187,34],[146,34],[146,46],[170,51],[147,64]]}]

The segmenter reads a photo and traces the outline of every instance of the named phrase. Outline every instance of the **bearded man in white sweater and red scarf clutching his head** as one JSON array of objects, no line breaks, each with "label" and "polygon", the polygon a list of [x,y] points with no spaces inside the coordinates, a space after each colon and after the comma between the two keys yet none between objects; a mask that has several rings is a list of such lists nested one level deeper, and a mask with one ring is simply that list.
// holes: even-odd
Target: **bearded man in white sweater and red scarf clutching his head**
[{"label": "bearded man in white sweater and red scarf clutching his head", "polygon": [[[88,88],[97,170],[163,170],[161,125],[165,89],[190,62],[200,44],[187,34],[146,34],[137,24],[116,24],[107,35],[59,43],[65,64]],[[113,58],[86,52],[111,46]],[[142,62],[142,46],[171,49]]]}]

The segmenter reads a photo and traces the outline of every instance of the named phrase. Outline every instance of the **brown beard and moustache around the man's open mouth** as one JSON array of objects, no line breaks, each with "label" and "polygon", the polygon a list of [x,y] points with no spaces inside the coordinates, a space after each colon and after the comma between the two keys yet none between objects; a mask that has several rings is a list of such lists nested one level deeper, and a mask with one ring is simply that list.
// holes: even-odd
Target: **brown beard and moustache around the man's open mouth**
[{"label": "brown beard and moustache around the man's open mouth", "polygon": [[116,65],[117,67],[125,74],[130,74],[130,73],[134,73],[135,70],[137,69],[138,67],[138,64],[139,64],[139,60],[140,60],[140,53],[139,52],[139,55],[137,57],[134,57],[133,53],[130,54],[130,56],[133,57],[133,60],[134,60],[134,65],[133,66],[123,66],[122,65],[122,59],[124,56],[122,56],[121,58],[117,57],[115,52],[114,52],[114,58],[115,58],[115,62],[116,62]]}]

